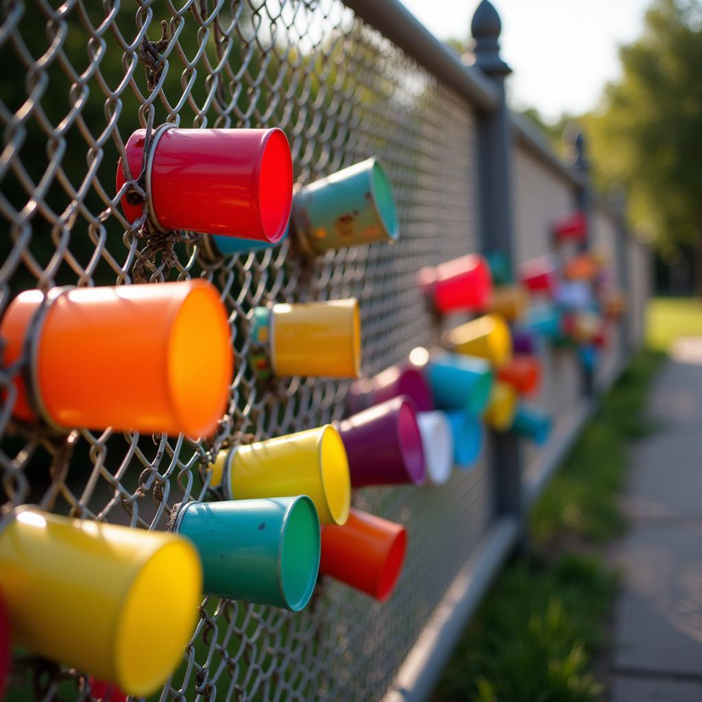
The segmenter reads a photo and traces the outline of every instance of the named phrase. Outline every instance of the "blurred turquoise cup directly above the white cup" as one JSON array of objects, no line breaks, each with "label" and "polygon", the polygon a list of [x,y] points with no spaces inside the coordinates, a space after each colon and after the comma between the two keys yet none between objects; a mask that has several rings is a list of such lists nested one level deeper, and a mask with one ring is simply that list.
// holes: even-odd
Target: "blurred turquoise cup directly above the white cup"
[{"label": "blurred turquoise cup directly above the white cup", "polygon": [[493,381],[486,359],[442,354],[430,359],[426,372],[439,409],[465,409],[473,416],[485,409]]}]

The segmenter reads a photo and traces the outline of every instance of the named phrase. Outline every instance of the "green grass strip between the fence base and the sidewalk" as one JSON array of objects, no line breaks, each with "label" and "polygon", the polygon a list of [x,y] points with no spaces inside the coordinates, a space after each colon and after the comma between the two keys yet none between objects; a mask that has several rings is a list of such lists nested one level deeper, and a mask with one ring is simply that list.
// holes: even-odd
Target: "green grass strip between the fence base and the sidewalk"
[{"label": "green grass strip between the fence base and the sidewalk", "polygon": [[617,576],[598,547],[625,529],[626,444],[662,355],[642,352],[602,400],[531,515],[533,550],[514,559],[446,666],[434,702],[595,702],[592,660],[607,637]]}]

